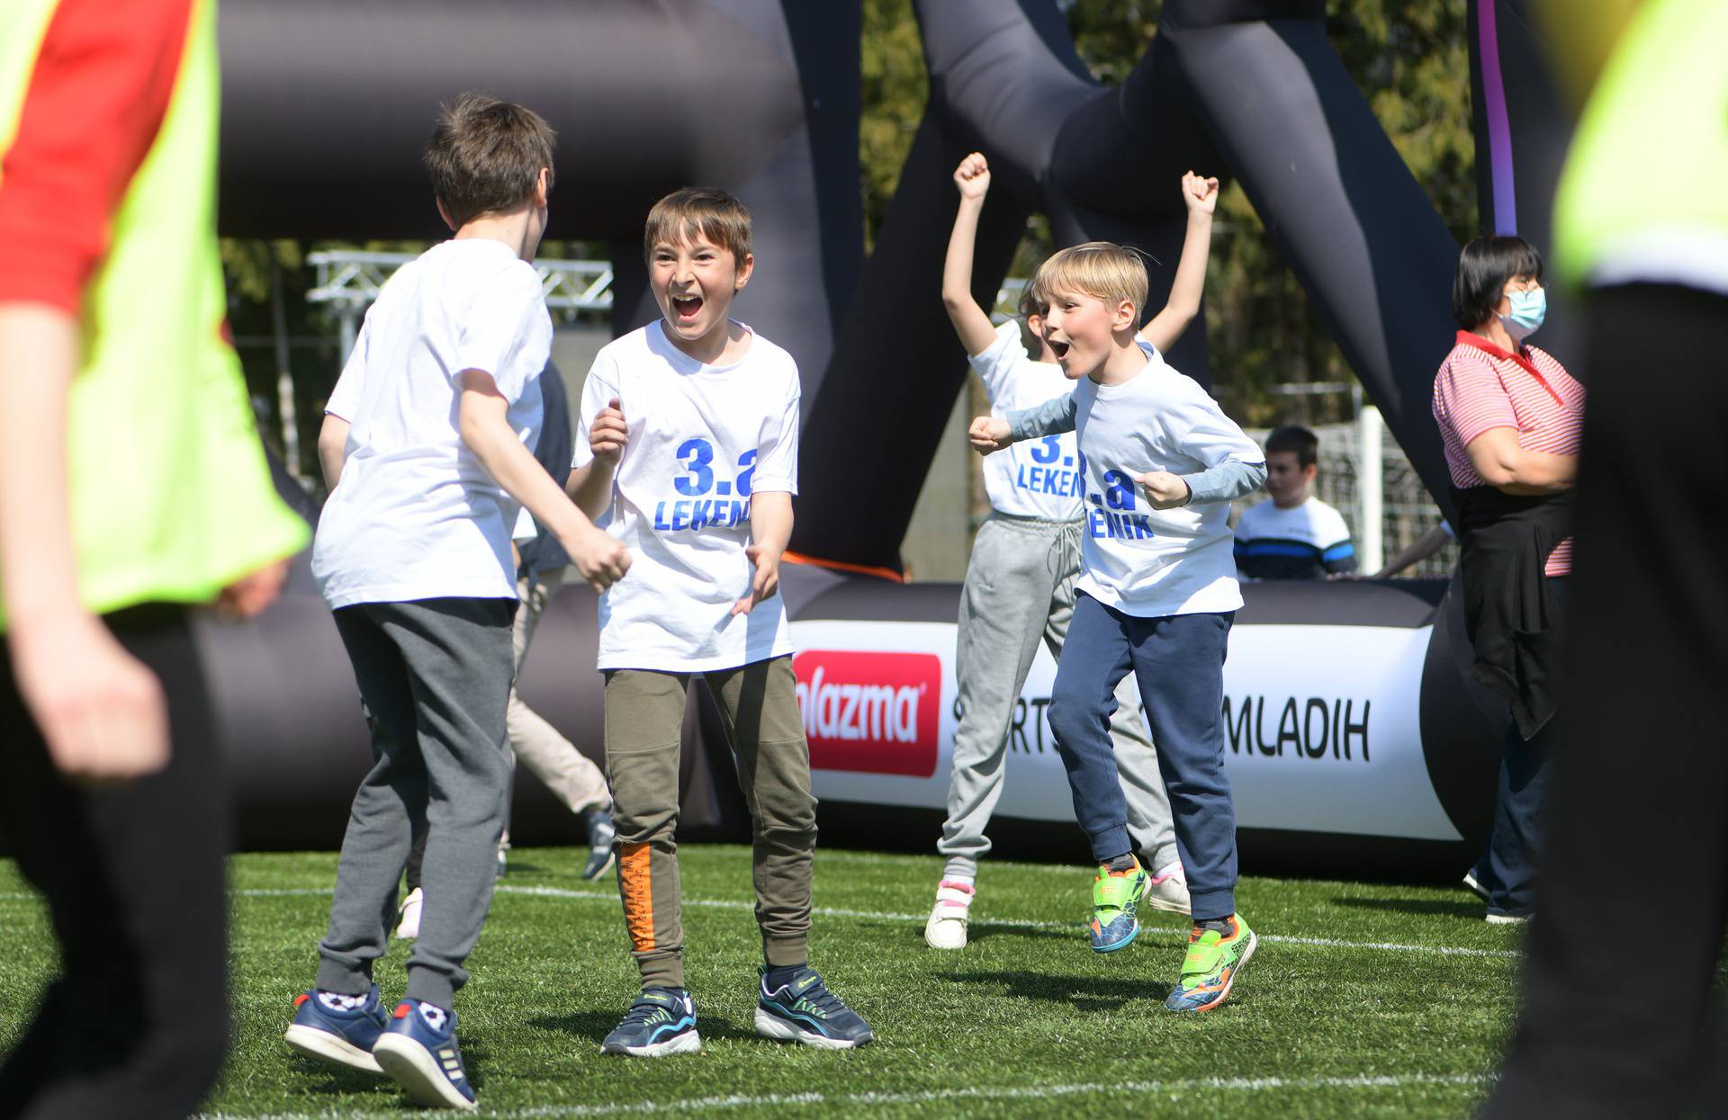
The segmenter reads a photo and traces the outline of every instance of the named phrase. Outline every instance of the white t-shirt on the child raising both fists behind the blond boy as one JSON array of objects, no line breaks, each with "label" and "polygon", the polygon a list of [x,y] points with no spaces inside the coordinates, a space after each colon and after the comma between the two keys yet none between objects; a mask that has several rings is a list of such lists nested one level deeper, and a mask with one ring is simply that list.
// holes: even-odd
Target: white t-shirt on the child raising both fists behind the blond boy
[{"label": "white t-shirt on the child raising both fists behind the blond boy", "polygon": [[[968,358],[990,398],[990,415],[1006,418],[1021,408],[1035,408],[1064,396],[1073,382],[1063,368],[1033,361],[1020,340],[1020,323],[995,328],[995,342],[982,354]],[[1026,439],[983,460],[983,489],[990,506],[1011,517],[1075,520],[1080,517],[1080,456],[1073,432]]]}]

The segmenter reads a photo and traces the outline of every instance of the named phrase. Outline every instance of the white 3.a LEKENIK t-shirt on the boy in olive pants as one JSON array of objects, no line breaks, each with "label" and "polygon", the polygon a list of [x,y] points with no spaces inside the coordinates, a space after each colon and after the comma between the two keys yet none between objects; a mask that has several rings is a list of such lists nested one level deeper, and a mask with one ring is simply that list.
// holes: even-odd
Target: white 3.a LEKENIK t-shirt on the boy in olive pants
[{"label": "white 3.a LEKENIK t-shirt on the boy in olive pants", "polygon": [[601,524],[629,546],[631,570],[600,596],[600,669],[700,672],[791,653],[779,595],[731,610],[755,576],[750,496],[798,493],[798,396],[791,354],[755,332],[726,366],[674,347],[658,320],[594,356],[572,468],[593,461],[588,432],[613,398],[629,429]]}]

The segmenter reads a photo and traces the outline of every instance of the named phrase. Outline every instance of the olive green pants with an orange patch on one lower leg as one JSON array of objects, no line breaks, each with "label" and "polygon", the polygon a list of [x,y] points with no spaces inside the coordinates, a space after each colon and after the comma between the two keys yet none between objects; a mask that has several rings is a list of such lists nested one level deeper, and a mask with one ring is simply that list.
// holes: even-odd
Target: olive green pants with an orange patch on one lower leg
[{"label": "olive green pants with an orange patch on one lower leg", "polygon": [[[643,987],[684,987],[677,890],[679,741],[688,672],[607,672],[607,781],[619,830],[619,895]],[[726,724],[755,843],[757,926],[769,964],[804,964],[816,799],[791,676],[774,657],[703,674]]]}]

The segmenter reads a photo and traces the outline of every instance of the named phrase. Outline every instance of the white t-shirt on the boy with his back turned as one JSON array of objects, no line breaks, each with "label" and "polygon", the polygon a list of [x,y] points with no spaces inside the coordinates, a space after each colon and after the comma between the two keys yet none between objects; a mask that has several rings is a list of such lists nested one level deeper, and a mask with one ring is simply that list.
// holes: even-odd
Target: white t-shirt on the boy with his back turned
[{"label": "white t-shirt on the boy with his back turned", "polygon": [[313,543],[332,608],[517,596],[520,506],[461,442],[454,379],[491,373],[532,448],[550,353],[539,277],[501,242],[442,242],[385,282],[327,406],[353,425]]}]

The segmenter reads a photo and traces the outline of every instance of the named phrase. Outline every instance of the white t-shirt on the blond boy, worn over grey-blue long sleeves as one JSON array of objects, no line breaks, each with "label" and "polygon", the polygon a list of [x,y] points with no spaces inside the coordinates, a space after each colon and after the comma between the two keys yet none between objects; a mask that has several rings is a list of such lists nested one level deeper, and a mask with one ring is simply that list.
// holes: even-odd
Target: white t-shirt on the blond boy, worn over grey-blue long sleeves
[{"label": "white t-shirt on the blond boy, worn over grey-blue long sleeves", "polygon": [[1078,589],[1139,617],[1241,608],[1230,505],[1153,510],[1134,479],[1198,474],[1227,460],[1261,463],[1260,446],[1156,351],[1132,380],[1085,379],[1073,396],[1085,472]]}]

